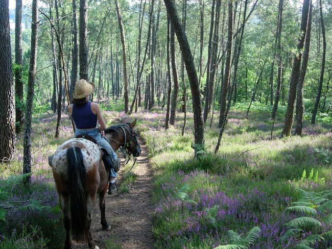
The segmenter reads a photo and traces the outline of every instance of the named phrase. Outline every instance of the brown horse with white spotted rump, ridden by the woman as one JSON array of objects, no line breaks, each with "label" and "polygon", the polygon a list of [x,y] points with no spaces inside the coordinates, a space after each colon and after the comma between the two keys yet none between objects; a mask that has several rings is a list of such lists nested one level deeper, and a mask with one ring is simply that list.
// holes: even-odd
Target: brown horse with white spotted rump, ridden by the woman
[{"label": "brown horse with white spotted rump, ridden by the woman", "polygon": [[[124,147],[134,157],[140,155],[140,146],[131,123],[118,124],[105,131],[114,151]],[[98,249],[91,233],[91,211],[99,193],[99,208],[103,230],[108,230],[105,218],[105,193],[108,188],[108,170],[102,161],[103,153],[99,146],[83,138],[73,138],[62,143],[50,165],[60,196],[64,215],[66,241],[64,248],[70,248],[70,229],[76,241],[88,241],[89,248]]]}]

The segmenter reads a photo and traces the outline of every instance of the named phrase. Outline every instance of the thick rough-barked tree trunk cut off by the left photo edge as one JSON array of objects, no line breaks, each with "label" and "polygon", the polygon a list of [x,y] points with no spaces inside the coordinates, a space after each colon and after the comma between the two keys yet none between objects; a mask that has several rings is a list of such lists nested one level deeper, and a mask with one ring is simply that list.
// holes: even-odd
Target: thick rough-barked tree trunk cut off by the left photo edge
[{"label": "thick rough-barked tree trunk cut off by the left photo edge", "polygon": [[8,0],[0,0],[0,163],[15,153],[15,90],[10,44]]}]

